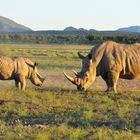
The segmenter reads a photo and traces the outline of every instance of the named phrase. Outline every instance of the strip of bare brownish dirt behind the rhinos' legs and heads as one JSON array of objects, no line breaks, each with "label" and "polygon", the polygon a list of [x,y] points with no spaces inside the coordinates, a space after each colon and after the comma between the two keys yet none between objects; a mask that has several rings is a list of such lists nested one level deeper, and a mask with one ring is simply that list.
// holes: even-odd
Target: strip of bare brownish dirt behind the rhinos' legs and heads
[{"label": "strip of bare brownish dirt behind the rhinos' legs and heads", "polygon": [[[67,89],[67,90],[76,90],[76,86],[71,84],[63,75],[63,71],[60,70],[52,70],[52,71],[47,71],[47,70],[41,70],[40,71],[43,76],[46,76],[46,81],[43,84],[41,89]],[[66,71],[70,76],[74,77],[71,71]],[[27,88],[38,88],[34,86],[29,80],[27,81]],[[15,83],[14,80],[7,80],[7,81],[2,81],[0,80],[0,89],[11,89],[15,88]],[[95,82],[93,83],[92,87],[93,89],[97,91],[105,91],[107,86],[105,81],[101,77],[97,77]],[[118,87],[117,87],[118,92],[122,91],[140,91],[140,80],[122,80],[119,79],[118,82]]]}]

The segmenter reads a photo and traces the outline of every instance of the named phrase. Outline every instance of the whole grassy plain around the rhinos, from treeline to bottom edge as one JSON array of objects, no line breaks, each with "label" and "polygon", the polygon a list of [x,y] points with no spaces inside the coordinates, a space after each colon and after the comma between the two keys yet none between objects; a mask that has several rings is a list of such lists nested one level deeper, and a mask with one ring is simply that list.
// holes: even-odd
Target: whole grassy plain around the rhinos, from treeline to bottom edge
[{"label": "whole grassy plain around the rhinos, from treeline to bottom edge", "polygon": [[25,56],[39,63],[47,77],[43,87],[29,81],[18,91],[13,81],[0,81],[0,139],[139,140],[140,82],[120,81],[118,94],[104,92],[97,78],[78,92],[63,71],[80,70],[77,52],[91,46],[0,44],[0,54]]}]

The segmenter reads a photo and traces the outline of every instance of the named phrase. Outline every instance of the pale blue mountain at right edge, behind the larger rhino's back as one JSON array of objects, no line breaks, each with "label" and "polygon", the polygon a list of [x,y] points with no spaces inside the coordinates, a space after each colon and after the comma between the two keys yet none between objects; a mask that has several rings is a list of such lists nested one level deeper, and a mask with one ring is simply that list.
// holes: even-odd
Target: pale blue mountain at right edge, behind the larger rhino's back
[{"label": "pale blue mountain at right edge, behind the larger rhino's back", "polygon": [[121,32],[140,32],[140,26],[130,26],[125,28],[119,28],[117,31]]}]

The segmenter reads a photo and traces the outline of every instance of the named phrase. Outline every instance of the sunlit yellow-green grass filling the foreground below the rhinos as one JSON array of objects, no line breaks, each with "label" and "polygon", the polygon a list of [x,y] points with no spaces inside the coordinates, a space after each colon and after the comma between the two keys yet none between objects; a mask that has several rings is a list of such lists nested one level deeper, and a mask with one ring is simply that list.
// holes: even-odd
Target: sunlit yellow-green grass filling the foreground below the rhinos
[{"label": "sunlit yellow-green grass filling the foreground below the rhinos", "polygon": [[140,136],[137,93],[129,98],[124,93],[87,91],[85,96],[64,89],[27,89],[3,90],[0,95],[3,137],[101,140]]}]

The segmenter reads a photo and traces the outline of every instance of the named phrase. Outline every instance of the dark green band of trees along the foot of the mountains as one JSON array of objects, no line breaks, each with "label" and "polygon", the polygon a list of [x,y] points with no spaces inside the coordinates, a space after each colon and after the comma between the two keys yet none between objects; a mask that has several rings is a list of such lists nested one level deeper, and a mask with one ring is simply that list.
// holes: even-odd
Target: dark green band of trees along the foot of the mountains
[{"label": "dark green band of trees along the foot of the mountains", "polygon": [[12,33],[0,34],[1,43],[38,43],[38,44],[95,44],[106,40],[114,40],[119,43],[140,43],[140,34],[130,33],[78,33],[78,34],[47,34],[35,33]]}]

